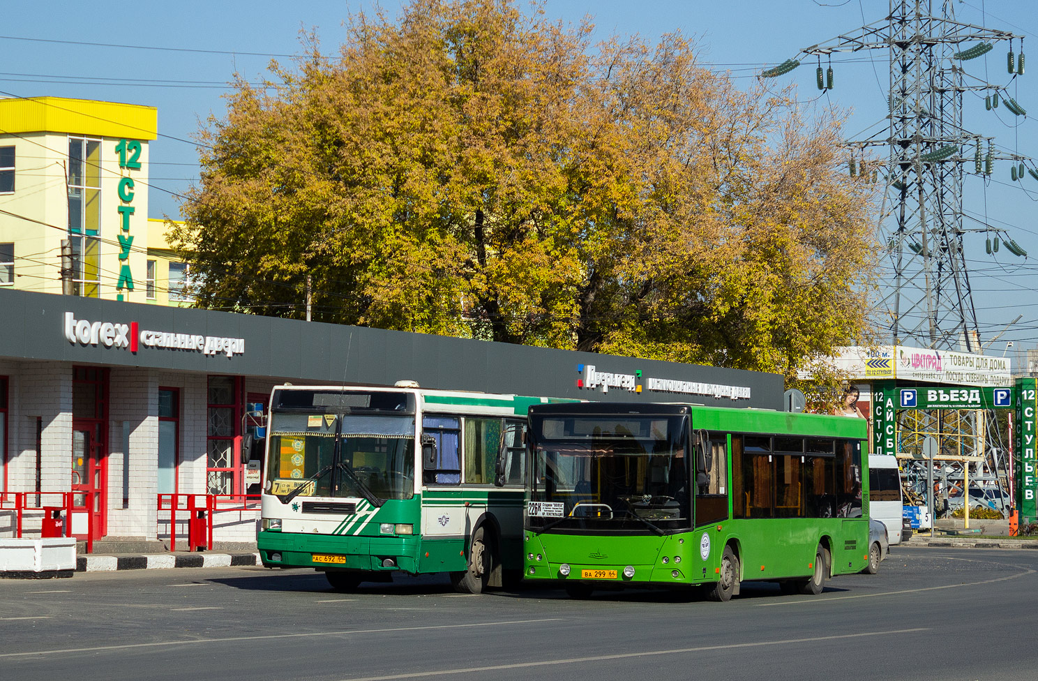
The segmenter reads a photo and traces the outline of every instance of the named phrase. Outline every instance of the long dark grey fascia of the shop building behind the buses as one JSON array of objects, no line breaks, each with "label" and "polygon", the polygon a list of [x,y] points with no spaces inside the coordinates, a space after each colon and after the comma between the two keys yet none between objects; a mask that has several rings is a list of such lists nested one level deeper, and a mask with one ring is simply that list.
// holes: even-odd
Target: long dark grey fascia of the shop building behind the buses
[{"label": "long dark grey fascia of the shop building behind the buses", "polygon": [[[244,352],[105,347],[65,337],[65,314],[77,321],[131,325],[138,331],[240,338]],[[0,291],[0,359],[137,366],[201,374],[265,377],[295,383],[391,385],[481,390],[608,402],[691,402],[712,406],[782,408],[781,376],[594,353],[487,343],[403,331],[183,309],[71,296]],[[708,394],[633,392],[577,386],[577,367],[750,389],[748,400]]]}]

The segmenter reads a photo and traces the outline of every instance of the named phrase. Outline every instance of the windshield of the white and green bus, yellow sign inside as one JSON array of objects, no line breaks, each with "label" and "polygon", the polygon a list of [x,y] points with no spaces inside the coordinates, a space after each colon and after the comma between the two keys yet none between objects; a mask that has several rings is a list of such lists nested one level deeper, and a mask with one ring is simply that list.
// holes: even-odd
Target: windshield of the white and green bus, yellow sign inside
[{"label": "windshield of the white and green bus, yellow sign inside", "polygon": [[267,490],[293,496],[414,496],[414,416],[271,414]]}]

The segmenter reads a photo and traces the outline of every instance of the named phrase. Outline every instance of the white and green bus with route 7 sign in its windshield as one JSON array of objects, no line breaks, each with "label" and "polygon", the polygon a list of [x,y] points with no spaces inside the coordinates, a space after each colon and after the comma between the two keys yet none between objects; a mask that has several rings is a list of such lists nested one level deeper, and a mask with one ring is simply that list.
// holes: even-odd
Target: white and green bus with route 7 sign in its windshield
[{"label": "white and green bus with route 7 sign in its windshield", "polygon": [[[267,567],[312,567],[338,591],[448,572],[480,593],[522,570],[526,410],[546,398],[281,385],[270,400],[257,538]],[[504,446],[511,468],[495,487]]]}]

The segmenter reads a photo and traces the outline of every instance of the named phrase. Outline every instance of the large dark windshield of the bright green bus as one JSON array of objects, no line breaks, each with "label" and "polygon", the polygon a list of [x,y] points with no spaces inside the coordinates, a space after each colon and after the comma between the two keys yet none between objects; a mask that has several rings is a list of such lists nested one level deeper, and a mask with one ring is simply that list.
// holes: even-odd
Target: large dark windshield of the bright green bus
[{"label": "large dark windshield of the bright green bus", "polygon": [[655,532],[691,526],[687,417],[539,415],[530,529]]}]

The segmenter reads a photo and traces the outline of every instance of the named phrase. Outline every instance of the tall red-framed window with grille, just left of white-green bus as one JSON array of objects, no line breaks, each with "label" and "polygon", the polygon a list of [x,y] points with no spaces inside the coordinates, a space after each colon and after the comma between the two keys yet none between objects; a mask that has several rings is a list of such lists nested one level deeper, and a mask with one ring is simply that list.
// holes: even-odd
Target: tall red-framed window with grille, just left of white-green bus
[{"label": "tall red-framed window with grille, just left of white-green bus", "polygon": [[242,493],[242,379],[210,376],[206,478],[210,494]]}]

